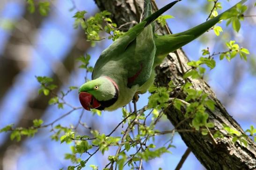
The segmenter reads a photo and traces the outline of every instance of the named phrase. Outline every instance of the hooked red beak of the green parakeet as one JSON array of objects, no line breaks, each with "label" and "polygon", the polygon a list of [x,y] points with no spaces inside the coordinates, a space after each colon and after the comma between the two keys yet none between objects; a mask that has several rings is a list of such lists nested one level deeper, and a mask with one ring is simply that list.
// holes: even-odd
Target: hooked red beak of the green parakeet
[{"label": "hooked red beak of the green parakeet", "polygon": [[86,110],[91,110],[100,107],[100,103],[95,99],[95,97],[87,92],[79,93],[79,100],[82,107]]}]

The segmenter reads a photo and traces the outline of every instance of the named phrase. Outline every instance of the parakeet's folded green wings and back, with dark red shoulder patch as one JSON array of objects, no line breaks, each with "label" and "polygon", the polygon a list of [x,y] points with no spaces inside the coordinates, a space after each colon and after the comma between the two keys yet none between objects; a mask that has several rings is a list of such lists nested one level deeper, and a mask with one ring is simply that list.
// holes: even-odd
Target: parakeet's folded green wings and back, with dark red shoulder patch
[{"label": "parakeet's folded green wings and back, with dark red shoulder patch", "polygon": [[106,48],[96,61],[92,79],[102,75],[126,78],[127,86],[141,86],[151,75],[154,63],[155,44],[151,23],[162,13],[176,4],[178,0],[169,3],[154,14],[151,14],[151,1],[145,0],[145,20],[132,27],[123,36]]}]

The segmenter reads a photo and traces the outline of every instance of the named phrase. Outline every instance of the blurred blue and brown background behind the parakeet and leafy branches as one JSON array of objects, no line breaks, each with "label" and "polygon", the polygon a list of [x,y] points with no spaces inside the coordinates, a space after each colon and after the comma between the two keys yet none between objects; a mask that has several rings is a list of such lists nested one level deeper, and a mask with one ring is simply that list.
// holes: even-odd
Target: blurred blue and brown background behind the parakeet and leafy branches
[{"label": "blurred blue and brown background behind the parakeet and leafy branches", "polygon": [[[156,0],[158,7],[163,7],[169,0]],[[233,6],[238,0],[228,2],[221,0],[224,9]],[[246,3],[246,15],[256,15],[254,4]],[[80,29],[74,29],[73,15],[77,10],[86,10],[88,18],[98,12],[93,0],[54,0],[48,16],[41,16],[37,10],[30,14],[25,0],[0,0],[0,129],[7,124],[28,127],[33,119],[43,119],[50,123],[64,115],[70,108],[58,109],[56,105],[48,105],[49,96],[38,95],[39,83],[35,76],[49,76],[58,85],[58,90],[66,91],[69,86],[80,86],[84,83],[85,71],[79,69],[75,61],[80,55],[91,55],[90,65],[94,66],[101,51],[110,45],[110,40],[97,42],[91,47],[86,36]],[[212,6],[207,0],[185,0],[177,4],[165,14],[175,18],[167,20],[173,33],[187,30],[206,20]],[[73,10],[72,10],[73,9]],[[220,12],[219,12],[220,13]],[[201,50],[209,47],[211,53],[226,51],[225,42],[235,40],[240,47],[248,48],[248,61],[239,56],[230,62],[219,61],[216,56],[216,68],[207,71],[205,80],[215,91],[218,99],[225,105],[228,113],[240,123],[243,129],[256,125],[256,17],[246,17],[241,22],[241,30],[235,33],[226,22],[219,24],[224,33],[218,37],[209,31],[196,41],[183,47],[190,60],[198,60]],[[90,74],[88,75],[90,78]],[[147,104],[149,94],[140,96],[138,108]],[[66,102],[80,107],[78,92],[73,90]],[[101,133],[109,134],[122,119],[122,111],[102,112],[102,116],[84,113],[77,110],[54,125],[76,125],[79,117],[88,127]],[[166,118],[162,118],[157,129],[172,129]],[[9,133],[0,133],[0,170],[59,170],[66,169],[72,163],[64,159],[65,153],[70,153],[70,145],[60,144],[51,140],[51,127],[39,129],[33,138],[22,138],[17,143],[9,139]],[[78,132],[88,135],[90,129],[78,126]],[[114,136],[120,135],[119,128]],[[162,146],[170,139],[170,135],[156,137],[157,146]],[[171,154],[164,154],[144,163],[145,170],[175,169],[186,146],[180,136],[174,136]],[[116,149],[116,148],[113,148]],[[102,169],[107,163],[107,157],[115,150],[93,156],[88,164],[96,164]],[[88,155],[84,154],[83,159]],[[89,167],[85,169],[91,169]],[[128,169],[128,168],[126,168]],[[190,156],[183,165],[183,170],[204,170],[196,157]]]}]

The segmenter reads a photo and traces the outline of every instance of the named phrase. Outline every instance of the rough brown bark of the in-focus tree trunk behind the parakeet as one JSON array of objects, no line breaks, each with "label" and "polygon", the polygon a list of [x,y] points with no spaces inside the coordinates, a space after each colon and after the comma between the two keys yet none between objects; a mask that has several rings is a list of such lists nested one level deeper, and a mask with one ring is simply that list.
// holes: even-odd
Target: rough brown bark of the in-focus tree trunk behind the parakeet
[{"label": "rough brown bark of the in-focus tree trunk behind the parakeet", "polygon": [[[143,0],[137,0],[141,7]],[[122,25],[132,20],[137,20],[138,14],[134,8],[133,0],[95,0],[101,10],[108,10],[112,13],[112,20],[117,25]],[[141,11],[141,10],[139,10]],[[138,20],[137,20],[138,21]],[[167,34],[166,29],[161,29],[162,34]],[[186,63],[189,61],[186,54],[182,50],[178,50],[177,54],[182,63],[184,71],[189,67]],[[170,80],[179,82],[183,79],[181,66],[174,53],[170,53],[164,62],[156,68],[157,77],[155,82],[160,86],[168,86]],[[219,102],[214,92],[209,85],[203,80],[188,80],[193,84],[193,88],[203,90],[209,94],[209,98],[216,102],[215,110],[207,110],[209,121],[214,122],[214,129],[222,129],[222,124],[225,123],[233,129],[244,134],[240,125],[227,113],[227,110]],[[184,99],[185,94],[181,93],[179,98]],[[171,96],[173,97],[173,96]],[[168,119],[174,126],[184,119],[184,110],[180,112],[174,107],[169,107],[166,110]],[[184,122],[179,126],[179,129],[191,129],[188,122]],[[225,134],[225,131],[221,130]],[[238,143],[233,143],[231,136],[225,136],[222,139],[217,139],[218,145],[212,143],[209,136],[202,136],[200,133],[180,133],[183,141],[191,149],[197,159],[208,170],[255,170],[256,169],[256,144],[247,138],[248,146],[241,146]]]}]

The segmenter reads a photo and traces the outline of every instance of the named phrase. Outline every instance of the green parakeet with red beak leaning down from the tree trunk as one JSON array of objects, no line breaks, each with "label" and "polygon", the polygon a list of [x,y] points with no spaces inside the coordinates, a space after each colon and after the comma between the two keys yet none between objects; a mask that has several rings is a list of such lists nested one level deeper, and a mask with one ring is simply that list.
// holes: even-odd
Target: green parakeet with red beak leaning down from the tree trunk
[{"label": "green parakeet with red beak leaning down from the tree trunk", "polygon": [[234,8],[182,33],[154,35],[153,21],[178,1],[152,14],[151,0],[144,0],[146,19],[102,51],[92,80],[80,87],[79,100],[84,109],[115,110],[128,104],[135,94],[146,93],[154,82],[155,66],[161,64],[168,53],[205,33]]}]

